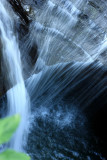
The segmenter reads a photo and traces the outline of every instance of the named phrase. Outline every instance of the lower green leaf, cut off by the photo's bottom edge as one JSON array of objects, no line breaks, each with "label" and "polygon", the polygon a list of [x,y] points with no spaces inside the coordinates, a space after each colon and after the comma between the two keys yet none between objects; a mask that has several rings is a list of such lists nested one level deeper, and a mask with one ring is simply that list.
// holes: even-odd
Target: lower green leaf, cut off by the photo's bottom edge
[{"label": "lower green leaf, cut off by the photo's bottom edge", "polygon": [[30,157],[24,153],[6,150],[0,154],[0,160],[30,160]]}]

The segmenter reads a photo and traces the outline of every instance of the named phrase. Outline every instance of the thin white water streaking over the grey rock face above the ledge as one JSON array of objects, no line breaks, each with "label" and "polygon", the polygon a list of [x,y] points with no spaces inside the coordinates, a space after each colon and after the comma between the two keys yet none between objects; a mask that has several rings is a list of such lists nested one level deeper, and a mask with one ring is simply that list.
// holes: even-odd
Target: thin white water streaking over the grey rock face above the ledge
[{"label": "thin white water streaking over the grey rock face above the ledge", "polygon": [[[106,32],[99,23],[104,15],[96,13],[94,19],[91,15],[94,11],[88,11],[91,7],[88,1],[47,0],[42,7],[37,7],[32,0],[23,1],[31,5],[35,13],[25,50],[36,44],[38,55],[46,65],[97,60],[106,63],[102,55]],[[37,0],[38,4],[40,1]],[[81,18],[81,14],[87,18]]]}]

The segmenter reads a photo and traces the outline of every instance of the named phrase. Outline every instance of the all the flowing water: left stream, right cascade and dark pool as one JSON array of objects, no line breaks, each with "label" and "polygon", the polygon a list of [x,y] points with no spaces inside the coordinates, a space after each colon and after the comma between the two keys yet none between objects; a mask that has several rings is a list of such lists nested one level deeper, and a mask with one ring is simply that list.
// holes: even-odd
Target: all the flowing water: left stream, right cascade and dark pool
[{"label": "all the flowing water: left stream, right cascade and dark pool", "polygon": [[22,117],[10,147],[22,150],[24,136],[33,160],[105,160],[106,1],[22,2],[32,22],[18,41],[18,17],[0,0],[8,115]]}]

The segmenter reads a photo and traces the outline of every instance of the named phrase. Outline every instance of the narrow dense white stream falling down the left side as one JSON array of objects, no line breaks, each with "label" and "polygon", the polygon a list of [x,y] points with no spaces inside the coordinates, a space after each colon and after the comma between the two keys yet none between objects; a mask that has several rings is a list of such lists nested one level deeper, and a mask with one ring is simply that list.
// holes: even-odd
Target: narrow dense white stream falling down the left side
[{"label": "narrow dense white stream falling down the left side", "polygon": [[11,14],[8,3],[5,0],[0,0],[0,33],[4,61],[3,73],[5,73],[8,87],[11,88],[7,92],[8,116],[13,114],[21,115],[21,123],[10,143],[10,148],[21,151],[24,139],[27,137],[25,129],[28,129],[29,96],[23,80],[20,50],[14,35],[14,21]]}]

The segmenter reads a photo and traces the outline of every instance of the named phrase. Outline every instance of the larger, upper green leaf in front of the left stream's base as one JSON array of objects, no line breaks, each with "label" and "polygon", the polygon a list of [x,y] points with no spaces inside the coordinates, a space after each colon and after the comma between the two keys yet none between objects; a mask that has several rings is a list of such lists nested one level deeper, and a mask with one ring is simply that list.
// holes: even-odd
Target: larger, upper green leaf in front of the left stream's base
[{"label": "larger, upper green leaf in front of the left stream's base", "polygon": [[20,116],[14,115],[0,120],[0,144],[6,143],[17,129]]}]

